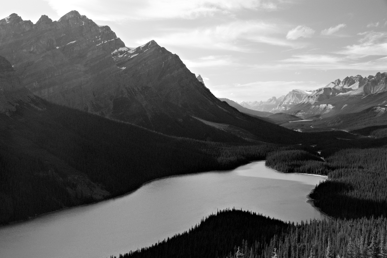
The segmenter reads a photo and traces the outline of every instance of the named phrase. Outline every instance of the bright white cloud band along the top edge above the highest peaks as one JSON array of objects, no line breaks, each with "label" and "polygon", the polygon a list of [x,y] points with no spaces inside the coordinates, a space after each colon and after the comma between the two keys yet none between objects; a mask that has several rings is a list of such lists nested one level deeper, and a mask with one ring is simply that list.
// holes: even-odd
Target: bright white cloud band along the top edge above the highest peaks
[{"label": "bright white cloud band along the top edge above the highest peaks", "polygon": [[[241,9],[277,9],[281,0],[46,0],[63,15],[68,10],[97,14],[100,21],[195,19],[214,14],[229,15]],[[95,18],[97,19],[97,18]]]}]

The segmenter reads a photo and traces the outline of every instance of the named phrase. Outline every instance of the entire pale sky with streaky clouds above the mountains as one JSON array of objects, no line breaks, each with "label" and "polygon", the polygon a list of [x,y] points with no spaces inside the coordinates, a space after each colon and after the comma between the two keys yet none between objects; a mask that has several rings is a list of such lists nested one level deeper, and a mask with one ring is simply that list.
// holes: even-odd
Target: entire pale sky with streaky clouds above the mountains
[{"label": "entire pale sky with streaky clouds above the mountains", "polygon": [[13,0],[0,19],[56,21],[71,10],[126,46],[155,40],[238,103],[387,72],[387,0]]}]

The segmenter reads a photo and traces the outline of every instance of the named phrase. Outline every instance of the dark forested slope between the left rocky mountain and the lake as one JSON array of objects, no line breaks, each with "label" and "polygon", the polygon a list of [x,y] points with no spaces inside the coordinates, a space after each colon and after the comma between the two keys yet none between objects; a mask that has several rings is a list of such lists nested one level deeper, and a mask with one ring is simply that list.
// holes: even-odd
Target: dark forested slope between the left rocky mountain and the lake
[{"label": "dark forested slope between the left rocky mountain and the lake", "polygon": [[280,147],[166,136],[50,103],[0,56],[0,224],[96,202],[176,174],[231,169]]}]

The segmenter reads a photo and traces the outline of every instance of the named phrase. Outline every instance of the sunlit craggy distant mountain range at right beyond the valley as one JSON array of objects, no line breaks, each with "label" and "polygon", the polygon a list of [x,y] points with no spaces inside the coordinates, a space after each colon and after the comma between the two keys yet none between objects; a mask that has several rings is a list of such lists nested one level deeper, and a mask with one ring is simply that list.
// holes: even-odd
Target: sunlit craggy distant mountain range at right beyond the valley
[{"label": "sunlit craggy distant mountain range at right beyond the valley", "polygon": [[314,91],[294,89],[286,96],[267,101],[242,102],[241,106],[257,111],[286,113],[304,118],[330,117],[360,112],[387,103],[387,73],[375,76],[346,77]]}]

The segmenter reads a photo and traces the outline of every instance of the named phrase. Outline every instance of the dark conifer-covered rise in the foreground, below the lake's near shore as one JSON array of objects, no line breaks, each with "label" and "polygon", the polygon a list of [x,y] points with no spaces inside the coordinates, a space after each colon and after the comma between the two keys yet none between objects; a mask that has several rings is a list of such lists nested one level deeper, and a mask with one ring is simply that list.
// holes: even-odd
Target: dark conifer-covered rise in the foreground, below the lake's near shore
[{"label": "dark conifer-covered rise in the foreground, below the lake's near shore", "polygon": [[223,210],[188,232],[118,257],[378,258],[387,255],[386,229],[385,218],[294,224],[248,211]]}]

